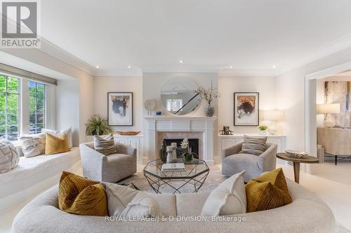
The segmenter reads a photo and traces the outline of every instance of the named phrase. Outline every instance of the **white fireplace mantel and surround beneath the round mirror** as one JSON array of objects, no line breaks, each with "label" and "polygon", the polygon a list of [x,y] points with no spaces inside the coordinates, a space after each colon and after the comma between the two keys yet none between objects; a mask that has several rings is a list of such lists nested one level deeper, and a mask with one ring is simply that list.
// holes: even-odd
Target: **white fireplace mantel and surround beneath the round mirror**
[{"label": "white fireplace mantel and surround beneath the round mirror", "polygon": [[201,132],[202,159],[213,164],[213,136],[217,117],[201,116],[147,116],[145,120],[145,153],[147,160],[156,160],[159,156],[157,148],[157,132]]}]

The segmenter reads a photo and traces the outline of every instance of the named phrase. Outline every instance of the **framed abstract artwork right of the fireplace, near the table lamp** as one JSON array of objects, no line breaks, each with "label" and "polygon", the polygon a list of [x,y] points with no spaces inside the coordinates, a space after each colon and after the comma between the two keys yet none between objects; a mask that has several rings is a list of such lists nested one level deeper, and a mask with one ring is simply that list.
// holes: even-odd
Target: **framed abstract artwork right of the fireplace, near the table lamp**
[{"label": "framed abstract artwork right of the fireplace, near the table lamp", "polygon": [[257,126],[259,101],[258,92],[234,92],[234,125]]}]

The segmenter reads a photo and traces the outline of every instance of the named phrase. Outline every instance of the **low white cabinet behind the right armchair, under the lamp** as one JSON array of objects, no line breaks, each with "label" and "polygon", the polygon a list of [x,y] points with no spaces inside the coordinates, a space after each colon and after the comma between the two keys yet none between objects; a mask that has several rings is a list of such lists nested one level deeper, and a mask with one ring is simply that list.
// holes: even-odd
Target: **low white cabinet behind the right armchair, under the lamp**
[{"label": "low white cabinet behind the right armchair, under the lamp", "polygon": [[239,143],[244,139],[244,135],[249,136],[267,136],[267,142],[277,144],[277,152],[284,152],[286,150],[286,135],[275,134],[275,135],[261,135],[261,134],[233,134],[233,135],[220,135],[218,134],[218,145],[220,148],[219,155],[222,150]]}]

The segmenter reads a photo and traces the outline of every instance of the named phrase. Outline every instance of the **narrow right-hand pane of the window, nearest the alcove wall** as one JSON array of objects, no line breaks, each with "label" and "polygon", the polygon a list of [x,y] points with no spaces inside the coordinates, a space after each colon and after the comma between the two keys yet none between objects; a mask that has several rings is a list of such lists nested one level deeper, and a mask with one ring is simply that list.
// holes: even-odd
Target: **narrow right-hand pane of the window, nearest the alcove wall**
[{"label": "narrow right-hand pane of the window, nearest the alcove wall", "polygon": [[29,134],[45,127],[45,85],[29,81]]}]

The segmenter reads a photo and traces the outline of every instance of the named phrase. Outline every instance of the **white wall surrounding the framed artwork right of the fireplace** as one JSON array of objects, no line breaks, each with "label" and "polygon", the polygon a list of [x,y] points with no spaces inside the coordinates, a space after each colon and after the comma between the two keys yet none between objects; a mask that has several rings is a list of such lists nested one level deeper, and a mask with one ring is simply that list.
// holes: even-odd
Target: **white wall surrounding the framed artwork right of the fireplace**
[{"label": "white wall surrounding the framed artwork right of the fireplace", "polygon": [[[235,133],[257,133],[256,126],[234,127],[234,92],[259,92],[260,110],[274,110],[276,108],[276,78],[275,77],[237,77],[219,76],[218,90],[218,129],[230,126]],[[260,114],[260,121],[262,114]]]}]

